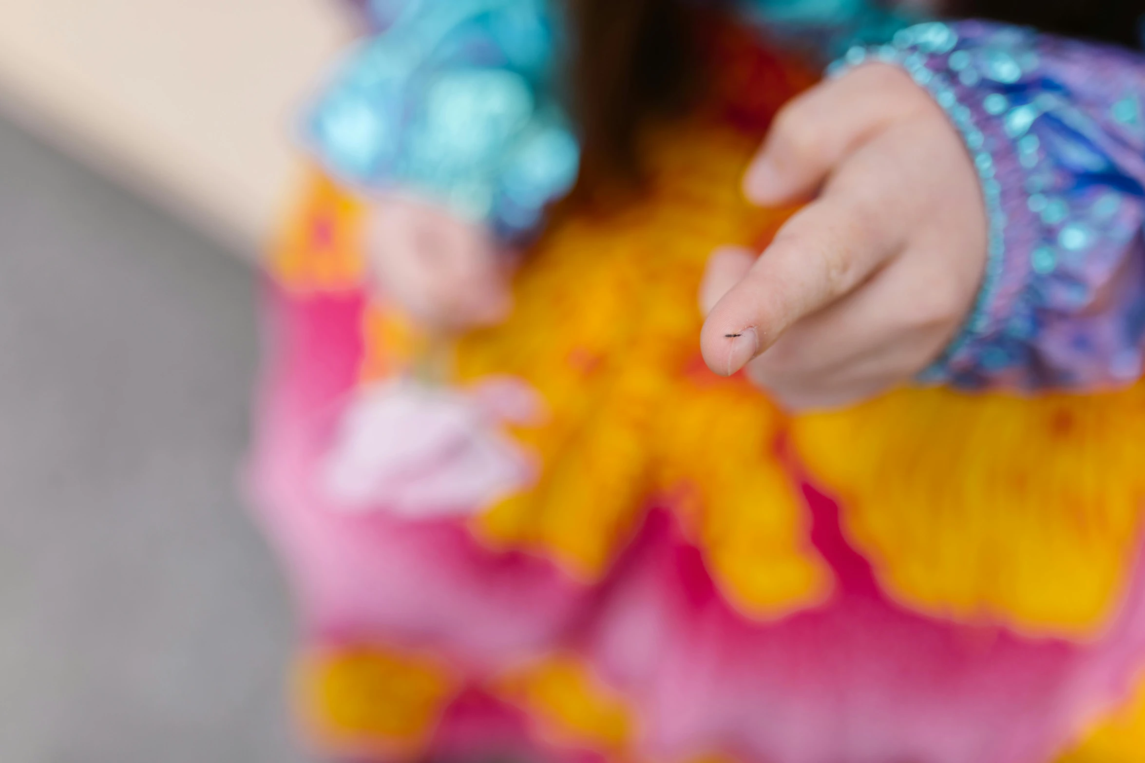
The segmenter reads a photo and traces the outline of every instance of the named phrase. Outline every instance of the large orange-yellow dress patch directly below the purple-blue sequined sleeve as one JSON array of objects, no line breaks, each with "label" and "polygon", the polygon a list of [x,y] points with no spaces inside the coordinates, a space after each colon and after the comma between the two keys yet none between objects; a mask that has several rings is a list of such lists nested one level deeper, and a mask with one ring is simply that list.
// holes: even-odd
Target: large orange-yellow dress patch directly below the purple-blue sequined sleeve
[{"label": "large orange-yellow dress patch directly below the purple-blue sequined sleeve", "polygon": [[1116,613],[1145,501],[1145,386],[1036,398],[906,389],[792,429],[902,604],[1074,638]]}]

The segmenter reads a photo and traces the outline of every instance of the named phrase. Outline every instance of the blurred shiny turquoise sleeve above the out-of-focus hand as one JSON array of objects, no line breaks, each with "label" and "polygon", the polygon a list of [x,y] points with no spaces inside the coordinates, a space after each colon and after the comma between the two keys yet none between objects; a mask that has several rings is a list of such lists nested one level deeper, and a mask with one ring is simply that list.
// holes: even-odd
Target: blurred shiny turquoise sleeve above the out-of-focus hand
[{"label": "blurred shiny turquoise sleeve above the out-of-focus hand", "polygon": [[535,230],[576,180],[556,97],[547,0],[374,0],[305,121],[324,166],[365,192],[402,189],[503,237]]}]

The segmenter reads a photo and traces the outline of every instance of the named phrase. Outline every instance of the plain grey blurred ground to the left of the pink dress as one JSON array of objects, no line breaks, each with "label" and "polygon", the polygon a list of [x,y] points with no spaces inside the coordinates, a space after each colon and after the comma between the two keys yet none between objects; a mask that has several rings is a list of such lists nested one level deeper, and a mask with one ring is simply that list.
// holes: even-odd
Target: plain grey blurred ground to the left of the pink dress
[{"label": "plain grey blurred ground to the left of the pink dress", "polygon": [[290,763],[231,253],[0,121],[0,761]]}]

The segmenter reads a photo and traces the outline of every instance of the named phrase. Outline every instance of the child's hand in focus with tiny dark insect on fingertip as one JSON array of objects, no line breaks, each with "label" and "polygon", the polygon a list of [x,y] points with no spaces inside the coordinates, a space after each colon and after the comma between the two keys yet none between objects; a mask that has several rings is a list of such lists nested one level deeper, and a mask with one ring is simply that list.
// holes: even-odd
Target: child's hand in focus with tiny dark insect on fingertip
[{"label": "child's hand in focus with tiny dark insect on fingertip", "polygon": [[979,181],[901,70],[864,65],[793,101],[744,191],[760,205],[818,196],[758,260],[710,260],[701,344],[716,373],[748,365],[792,408],[845,405],[922,371],[969,313],[987,252]]}]

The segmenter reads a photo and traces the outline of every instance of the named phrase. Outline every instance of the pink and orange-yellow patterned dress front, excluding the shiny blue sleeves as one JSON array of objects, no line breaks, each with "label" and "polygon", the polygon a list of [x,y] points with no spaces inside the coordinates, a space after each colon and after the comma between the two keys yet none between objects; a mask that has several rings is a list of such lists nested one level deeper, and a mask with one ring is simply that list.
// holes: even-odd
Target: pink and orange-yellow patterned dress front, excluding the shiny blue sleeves
[{"label": "pink and orange-yellow patterned dress front, excluding the shiny blue sleeves", "polygon": [[[915,41],[917,43],[917,40]],[[906,389],[789,416],[696,347],[708,252],[811,84],[728,32],[645,136],[646,196],[567,206],[502,326],[426,337],[317,176],[275,252],[253,495],[298,595],[299,707],[353,761],[1145,760],[1145,384]],[[768,82],[761,95],[751,82]]]}]

